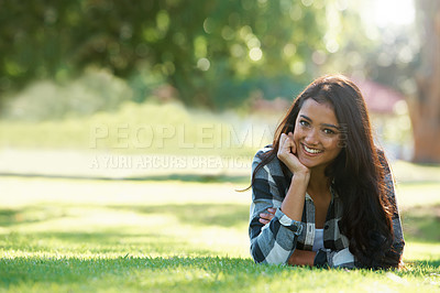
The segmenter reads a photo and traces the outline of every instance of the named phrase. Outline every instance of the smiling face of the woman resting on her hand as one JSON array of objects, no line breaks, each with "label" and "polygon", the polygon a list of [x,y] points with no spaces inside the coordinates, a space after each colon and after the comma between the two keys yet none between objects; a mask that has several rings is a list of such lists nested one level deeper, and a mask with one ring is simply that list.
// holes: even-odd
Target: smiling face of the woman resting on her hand
[{"label": "smiling face of the woman resting on her hand", "polygon": [[326,167],[341,152],[340,137],[332,106],[311,98],[305,100],[294,132],[299,162],[309,169]]}]

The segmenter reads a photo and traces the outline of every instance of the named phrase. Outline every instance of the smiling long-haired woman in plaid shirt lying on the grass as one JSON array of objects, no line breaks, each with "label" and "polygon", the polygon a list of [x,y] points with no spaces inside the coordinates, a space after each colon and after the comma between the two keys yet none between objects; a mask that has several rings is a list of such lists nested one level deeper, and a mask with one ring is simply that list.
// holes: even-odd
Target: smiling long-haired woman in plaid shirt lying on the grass
[{"label": "smiling long-haired woman in plaid shirt lying on the grass", "polygon": [[393,178],[359,88],[311,83],[252,164],[255,262],[398,268],[404,249]]}]

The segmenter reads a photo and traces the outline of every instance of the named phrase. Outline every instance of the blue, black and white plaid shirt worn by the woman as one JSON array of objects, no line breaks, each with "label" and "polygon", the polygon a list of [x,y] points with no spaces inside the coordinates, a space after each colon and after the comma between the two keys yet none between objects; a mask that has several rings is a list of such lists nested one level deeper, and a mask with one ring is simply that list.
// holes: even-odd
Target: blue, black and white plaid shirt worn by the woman
[{"label": "blue, black and white plaid shirt worn by the woman", "polygon": [[[261,162],[262,155],[270,150],[271,148],[266,146],[256,153],[252,163],[252,171]],[[405,241],[394,195],[392,174],[388,167],[386,167],[386,171],[387,196],[395,207],[393,247],[402,256]],[[279,160],[276,156],[255,174],[255,181],[252,185],[249,236],[251,238],[251,254],[257,263],[287,263],[295,249],[311,250],[314,246],[315,205],[311,197],[306,194],[301,221],[290,219],[279,209],[289,186],[290,178],[286,178],[283,174]],[[332,188],[330,191],[331,202],[323,227],[324,248],[317,251],[315,265],[327,264],[330,268],[361,267],[349,250],[349,239],[339,230],[338,224],[342,217],[341,199]],[[271,223],[263,225],[258,221],[260,213],[267,213],[270,207],[276,208],[275,217]]]}]

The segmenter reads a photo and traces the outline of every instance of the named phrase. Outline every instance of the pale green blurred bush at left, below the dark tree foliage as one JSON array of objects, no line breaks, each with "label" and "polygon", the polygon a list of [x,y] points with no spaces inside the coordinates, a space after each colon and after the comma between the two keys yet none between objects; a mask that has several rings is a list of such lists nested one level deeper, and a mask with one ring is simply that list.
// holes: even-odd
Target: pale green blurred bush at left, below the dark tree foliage
[{"label": "pale green blurred bush at left, below the dark tree foliage", "polygon": [[33,83],[4,105],[3,119],[10,121],[47,121],[68,117],[116,111],[132,99],[127,83],[106,70],[88,70],[69,83]]}]

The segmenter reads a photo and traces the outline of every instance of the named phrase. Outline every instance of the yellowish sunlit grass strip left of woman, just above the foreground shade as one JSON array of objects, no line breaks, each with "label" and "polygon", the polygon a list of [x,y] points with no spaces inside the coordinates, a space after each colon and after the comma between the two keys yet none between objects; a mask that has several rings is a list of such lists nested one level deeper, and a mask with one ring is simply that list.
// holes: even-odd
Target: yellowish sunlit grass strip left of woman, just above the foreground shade
[{"label": "yellowish sunlit grass strip left of woman, just above the foreground shade", "polygon": [[212,250],[194,247],[187,239],[155,231],[129,232],[123,228],[96,232],[10,232],[0,238],[0,247],[11,251],[61,254],[166,254],[210,256]]}]

